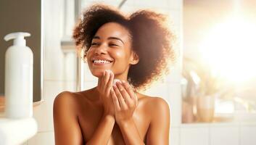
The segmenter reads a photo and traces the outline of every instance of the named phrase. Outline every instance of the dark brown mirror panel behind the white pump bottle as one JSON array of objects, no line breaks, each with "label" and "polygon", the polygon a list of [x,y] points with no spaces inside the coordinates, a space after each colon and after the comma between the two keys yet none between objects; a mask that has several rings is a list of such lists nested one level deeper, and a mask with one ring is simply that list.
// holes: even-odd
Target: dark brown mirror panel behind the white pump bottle
[{"label": "dark brown mirror panel behind the white pump bottle", "polygon": [[43,77],[41,0],[1,0],[0,17],[0,96],[4,96],[5,52],[13,45],[13,41],[4,41],[4,36],[13,32],[28,32],[31,36],[25,38],[26,45],[33,51],[33,102],[39,102],[42,100]]}]

